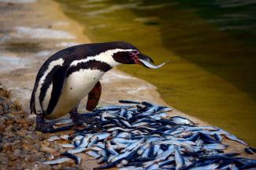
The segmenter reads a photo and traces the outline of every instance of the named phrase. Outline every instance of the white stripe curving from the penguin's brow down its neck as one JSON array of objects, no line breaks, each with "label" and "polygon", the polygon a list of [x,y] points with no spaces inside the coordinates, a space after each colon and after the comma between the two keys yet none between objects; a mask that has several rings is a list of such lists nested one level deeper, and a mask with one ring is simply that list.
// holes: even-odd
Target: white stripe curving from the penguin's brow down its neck
[{"label": "white stripe curving from the penguin's brow down its neck", "polygon": [[89,60],[97,60],[104,63],[108,63],[111,67],[114,67],[120,63],[117,63],[117,61],[113,60],[113,54],[117,52],[130,52],[130,51],[134,51],[134,49],[109,49],[106,52],[101,52],[96,56],[87,56],[86,59],[73,61],[70,66],[76,66],[78,63],[85,63]]}]

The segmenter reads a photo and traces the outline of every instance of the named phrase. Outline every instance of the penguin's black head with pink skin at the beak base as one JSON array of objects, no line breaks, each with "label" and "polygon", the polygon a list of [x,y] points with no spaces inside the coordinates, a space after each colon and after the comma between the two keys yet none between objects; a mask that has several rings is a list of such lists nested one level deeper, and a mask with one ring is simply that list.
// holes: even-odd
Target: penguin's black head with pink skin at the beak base
[{"label": "penguin's black head with pink skin at the beak base", "polygon": [[113,60],[118,63],[124,64],[139,64],[146,67],[140,60],[146,60],[147,62],[154,63],[154,61],[149,57],[144,55],[135,46],[128,44],[127,42],[119,42],[118,49],[124,49],[121,52],[116,52],[113,54]]}]

